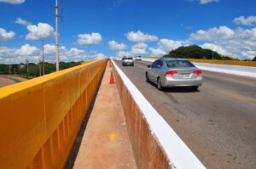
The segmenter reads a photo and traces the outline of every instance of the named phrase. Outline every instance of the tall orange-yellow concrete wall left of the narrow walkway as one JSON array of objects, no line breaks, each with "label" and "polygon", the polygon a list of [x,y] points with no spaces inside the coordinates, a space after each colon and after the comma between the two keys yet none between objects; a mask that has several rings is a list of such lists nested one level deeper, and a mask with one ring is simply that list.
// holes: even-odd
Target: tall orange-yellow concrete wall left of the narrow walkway
[{"label": "tall orange-yellow concrete wall left of the narrow walkway", "polygon": [[0,168],[62,168],[108,59],[0,88]]}]

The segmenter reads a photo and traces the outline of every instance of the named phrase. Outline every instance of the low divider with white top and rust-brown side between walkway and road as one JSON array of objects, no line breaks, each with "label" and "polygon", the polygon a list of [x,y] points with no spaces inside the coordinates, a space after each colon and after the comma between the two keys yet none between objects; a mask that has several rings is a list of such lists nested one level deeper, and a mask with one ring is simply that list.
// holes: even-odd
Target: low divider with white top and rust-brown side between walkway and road
[{"label": "low divider with white top and rust-brown side between walkway and road", "polygon": [[114,62],[113,74],[137,168],[205,168]]}]

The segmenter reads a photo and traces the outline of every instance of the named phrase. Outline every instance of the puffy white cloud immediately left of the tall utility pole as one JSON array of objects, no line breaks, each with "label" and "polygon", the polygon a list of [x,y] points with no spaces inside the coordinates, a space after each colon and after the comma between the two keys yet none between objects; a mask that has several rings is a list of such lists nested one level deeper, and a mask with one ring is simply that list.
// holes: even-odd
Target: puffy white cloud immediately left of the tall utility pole
[{"label": "puffy white cloud immediately left of the tall utility pole", "polygon": [[38,23],[38,25],[27,25],[26,29],[29,33],[26,40],[38,40],[54,36],[54,28],[47,23]]}]

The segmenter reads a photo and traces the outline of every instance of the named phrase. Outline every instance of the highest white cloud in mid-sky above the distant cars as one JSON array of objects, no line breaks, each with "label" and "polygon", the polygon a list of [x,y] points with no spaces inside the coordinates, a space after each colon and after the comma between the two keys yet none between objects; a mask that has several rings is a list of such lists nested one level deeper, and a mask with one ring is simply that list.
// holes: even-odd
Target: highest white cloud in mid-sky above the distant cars
[{"label": "highest white cloud in mid-sky above the distant cars", "polygon": [[158,37],[144,34],[142,31],[130,31],[127,33],[126,37],[131,42],[152,42],[158,40]]}]

